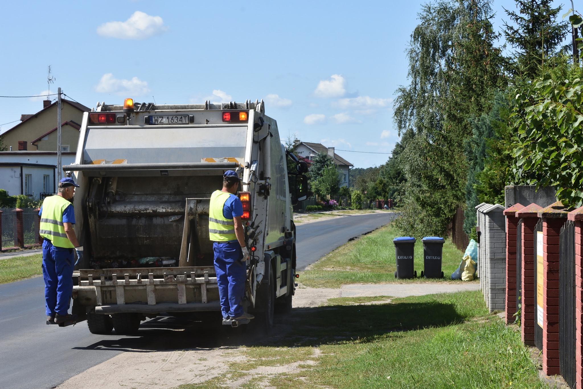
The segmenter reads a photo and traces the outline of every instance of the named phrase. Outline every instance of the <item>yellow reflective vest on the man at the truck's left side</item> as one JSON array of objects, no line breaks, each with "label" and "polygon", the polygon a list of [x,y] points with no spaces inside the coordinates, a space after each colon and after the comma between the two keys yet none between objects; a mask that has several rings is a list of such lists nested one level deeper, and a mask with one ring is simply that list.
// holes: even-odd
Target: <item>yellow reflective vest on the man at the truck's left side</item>
[{"label": "yellow reflective vest on the man at the truck's left side", "polygon": [[50,240],[53,246],[73,248],[65,234],[63,212],[71,202],[59,195],[50,196],[43,201],[43,213],[40,216],[40,236]]}]

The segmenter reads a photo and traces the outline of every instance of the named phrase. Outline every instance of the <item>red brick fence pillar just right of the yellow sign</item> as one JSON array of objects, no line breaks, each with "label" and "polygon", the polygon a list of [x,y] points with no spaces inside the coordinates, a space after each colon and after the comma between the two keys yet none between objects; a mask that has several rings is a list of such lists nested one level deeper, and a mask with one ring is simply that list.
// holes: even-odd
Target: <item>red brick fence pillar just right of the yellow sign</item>
[{"label": "red brick fence pillar just right of the yellow sign", "polygon": [[542,358],[543,372],[548,376],[561,374],[559,367],[559,236],[561,227],[567,221],[569,211],[560,201],[557,201],[539,212],[539,217],[543,219]]}]

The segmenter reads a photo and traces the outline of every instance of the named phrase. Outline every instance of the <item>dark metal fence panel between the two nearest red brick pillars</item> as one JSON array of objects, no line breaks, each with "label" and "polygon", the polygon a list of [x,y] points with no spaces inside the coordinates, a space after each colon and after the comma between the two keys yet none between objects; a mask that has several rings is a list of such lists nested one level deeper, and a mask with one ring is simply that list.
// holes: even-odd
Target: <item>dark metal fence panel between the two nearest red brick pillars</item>
[{"label": "dark metal fence panel between the two nearest red brick pillars", "polygon": [[575,223],[568,220],[559,236],[559,367],[575,384]]}]

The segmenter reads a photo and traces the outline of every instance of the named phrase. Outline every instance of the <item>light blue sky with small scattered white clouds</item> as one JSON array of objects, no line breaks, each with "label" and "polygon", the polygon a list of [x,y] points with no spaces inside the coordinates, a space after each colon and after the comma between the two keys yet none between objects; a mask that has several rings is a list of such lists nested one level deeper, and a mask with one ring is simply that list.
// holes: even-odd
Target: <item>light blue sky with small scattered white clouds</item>
[{"label": "light blue sky with small scattered white clouds", "polygon": [[[47,67],[68,96],[94,107],[264,99],[282,139],[389,153],[392,99],[422,1],[3,2],[0,95],[47,93]],[[560,4],[560,2],[556,2]],[[496,28],[507,19],[494,1]],[[565,10],[570,8],[567,6]],[[575,2],[577,8],[577,2]],[[52,96],[55,97],[55,96]],[[4,124],[41,100],[0,98]],[[388,155],[338,151],[355,167]]]}]

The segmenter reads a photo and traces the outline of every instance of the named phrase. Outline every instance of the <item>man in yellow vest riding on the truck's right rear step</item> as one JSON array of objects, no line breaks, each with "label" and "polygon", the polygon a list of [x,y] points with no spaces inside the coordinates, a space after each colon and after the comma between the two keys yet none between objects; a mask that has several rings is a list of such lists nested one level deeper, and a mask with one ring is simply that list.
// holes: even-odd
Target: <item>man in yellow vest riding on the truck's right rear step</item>
[{"label": "man in yellow vest riding on the truck's right rear step", "polygon": [[233,170],[223,174],[223,189],[210,196],[209,237],[213,242],[215,271],[223,320],[252,319],[243,311],[245,261],[249,251],[243,231],[243,204],[235,195],[240,178]]}]

